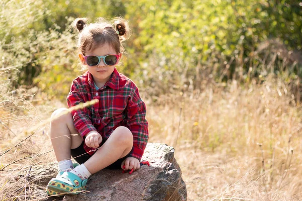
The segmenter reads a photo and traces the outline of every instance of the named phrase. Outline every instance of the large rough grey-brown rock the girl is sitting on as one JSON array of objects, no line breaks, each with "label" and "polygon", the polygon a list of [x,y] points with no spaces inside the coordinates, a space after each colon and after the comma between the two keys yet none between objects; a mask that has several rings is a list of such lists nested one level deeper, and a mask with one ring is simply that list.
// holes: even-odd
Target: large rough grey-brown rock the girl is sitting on
[{"label": "large rough grey-brown rock the girl is sitting on", "polygon": [[[186,185],[181,178],[181,170],[174,158],[174,148],[165,144],[148,143],[142,160],[143,165],[132,174],[121,170],[101,170],[92,175],[87,183],[90,192],[65,195],[64,200],[186,200]],[[37,188],[32,193],[45,197],[48,181],[57,174],[57,163],[36,166],[30,178]],[[47,200],[54,200],[49,197]],[[56,199],[62,199],[56,198]]]}]

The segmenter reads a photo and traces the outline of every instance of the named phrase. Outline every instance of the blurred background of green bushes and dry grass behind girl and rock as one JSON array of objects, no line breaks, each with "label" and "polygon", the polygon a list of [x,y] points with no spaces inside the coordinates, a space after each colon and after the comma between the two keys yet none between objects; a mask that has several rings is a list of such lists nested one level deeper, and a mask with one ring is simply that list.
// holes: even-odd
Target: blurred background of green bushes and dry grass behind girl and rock
[{"label": "blurred background of green bushes and dry grass behind girl and rock", "polygon": [[25,171],[18,167],[55,160],[44,153],[52,149],[48,124],[31,136],[24,131],[67,107],[71,82],[82,74],[70,23],[117,16],[132,30],[118,70],[146,102],[149,142],[176,149],[188,200],[299,200],[300,0],[0,5],[2,200],[24,194],[21,184],[12,188],[11,178]]}]

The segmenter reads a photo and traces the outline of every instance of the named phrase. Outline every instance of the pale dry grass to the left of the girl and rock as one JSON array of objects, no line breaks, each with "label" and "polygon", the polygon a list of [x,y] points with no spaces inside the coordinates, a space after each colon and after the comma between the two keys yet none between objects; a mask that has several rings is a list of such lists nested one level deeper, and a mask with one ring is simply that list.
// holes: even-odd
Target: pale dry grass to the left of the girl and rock
[{"label": "pale dry grass to the left of the girl and rock", "polygon": [[[27,195],[33,188],[27,177],[21,175],[27,175],[32,165],[48,163],[54,157],[52,154],[41,154],[52,149],[47,126],[38,128],[26,140],[24,137],[12,143],[12,139],[19,139],[23,131],[42,122],[51,108],[34,107],[29,101],[33,100],[32,96],[23,89],[9,91],[9,82],[0,82],[0,146],[3,147],[0,152],[0,169],[3,170],[0,171],[0,199],[19,200],[18,196]],[[8,151],[9,148],[12,149]]]}]

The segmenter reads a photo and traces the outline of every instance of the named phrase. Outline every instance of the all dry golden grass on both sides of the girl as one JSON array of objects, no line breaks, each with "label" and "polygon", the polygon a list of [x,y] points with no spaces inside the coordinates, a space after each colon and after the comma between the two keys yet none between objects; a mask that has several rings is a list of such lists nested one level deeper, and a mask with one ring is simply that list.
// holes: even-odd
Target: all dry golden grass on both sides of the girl
[{"label": "all dry golden grass on both sides of the girl", "polygon": [[[1,87],[6,91],[5,84]],[[14,147],[8,139],[63,106],[34,107],[22,94],[0,95],[1,145]],[[188,200],[299,200],[301,109],[282,82],[240,86],[233,81],[226,88],[162,95],[155,103],[144,99],[149,141],[175,147]],[[0,156],[2,168],[22,159],[0,171],[1,200],[25,199],[35,186],[19,175],[27,175],[31,165],[55,160],[53,152],[45,153],[52,149],[48,134],[48,125],[37,128]]]}]

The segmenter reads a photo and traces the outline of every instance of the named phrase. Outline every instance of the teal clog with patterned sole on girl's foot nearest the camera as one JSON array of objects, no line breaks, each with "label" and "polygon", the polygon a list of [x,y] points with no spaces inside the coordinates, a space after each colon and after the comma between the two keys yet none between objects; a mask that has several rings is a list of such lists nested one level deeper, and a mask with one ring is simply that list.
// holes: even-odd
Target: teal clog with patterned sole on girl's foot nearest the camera
[{"label": "teal clog with patterned sole on girl's foot nearest the camera", "polygon": [[63,172],[56,178],[51,179],[47,185],[47,194],[58,195],[63,194],[79,194],[82,190],[86,190],[86,183],[88,179],[82,180],[79,176]]}]

